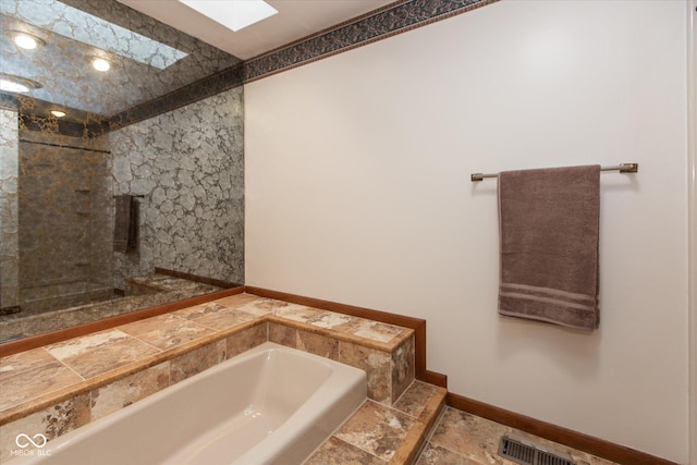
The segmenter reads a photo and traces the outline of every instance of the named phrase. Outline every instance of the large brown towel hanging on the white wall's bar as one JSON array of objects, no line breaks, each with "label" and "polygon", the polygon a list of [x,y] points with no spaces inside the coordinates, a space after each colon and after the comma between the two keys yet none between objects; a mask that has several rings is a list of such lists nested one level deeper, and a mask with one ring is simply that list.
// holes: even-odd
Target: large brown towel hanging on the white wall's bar
[{"label": "large brown towel hanging on the white wall's bar", "polygon": [[598,328],[600,167],[499,174],[499,314]]}]

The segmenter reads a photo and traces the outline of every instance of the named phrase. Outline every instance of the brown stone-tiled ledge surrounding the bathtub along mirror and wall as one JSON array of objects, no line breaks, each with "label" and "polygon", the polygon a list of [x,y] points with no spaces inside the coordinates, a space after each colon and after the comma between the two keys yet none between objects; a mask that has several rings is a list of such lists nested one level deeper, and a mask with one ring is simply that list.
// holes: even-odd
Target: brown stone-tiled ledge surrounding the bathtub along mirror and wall
[{"label": "brown stone-tiled ledge surrounding the bathtub along mirror and wall", "polygon": [[1,358],[0,460],[21,432],[50,440],[267,340],[366,369],[382,405],[414,378],[411,329],[237,294]]}]

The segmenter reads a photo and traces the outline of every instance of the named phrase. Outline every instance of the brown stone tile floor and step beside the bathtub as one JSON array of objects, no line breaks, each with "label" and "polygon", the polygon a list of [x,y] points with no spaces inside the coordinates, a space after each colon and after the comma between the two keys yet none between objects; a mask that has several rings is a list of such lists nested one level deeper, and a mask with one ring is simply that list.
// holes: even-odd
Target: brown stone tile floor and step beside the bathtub
[{"label": "brown stone tile floor and step beside the bathtub", "polygon": [[[444,392],[414,381],[392,406],[366,401],[304,465],[517,465],[498,455],[503,435],[568,454],[576,465],[614,464],[452,407],[438,416]],[[427,418],[433,418],[430,430]],[[421,433],[427,435],[421,451],[409,452],[416,452]]]}]

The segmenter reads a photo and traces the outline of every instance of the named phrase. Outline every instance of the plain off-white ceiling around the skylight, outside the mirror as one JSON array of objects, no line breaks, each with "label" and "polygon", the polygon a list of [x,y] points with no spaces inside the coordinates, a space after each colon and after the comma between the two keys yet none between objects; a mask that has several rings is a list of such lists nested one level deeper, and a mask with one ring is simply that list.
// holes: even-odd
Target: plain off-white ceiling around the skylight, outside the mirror
[{"label": "plain off-white ceiling around the skylight, outside the mirror", "polygon": [[242,60],[394,3],[394,0],[267,0],[278,14],[233,33],[175,0],[119,1]]}]

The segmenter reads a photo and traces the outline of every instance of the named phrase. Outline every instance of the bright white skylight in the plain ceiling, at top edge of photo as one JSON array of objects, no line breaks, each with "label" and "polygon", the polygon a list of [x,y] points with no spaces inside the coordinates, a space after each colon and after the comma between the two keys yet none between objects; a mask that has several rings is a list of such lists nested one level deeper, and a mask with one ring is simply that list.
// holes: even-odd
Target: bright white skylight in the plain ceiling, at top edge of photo
[{"label": "bright white skylight in the plain ceiling, at top edge of photo", "polygon": [[273,16],[279,11],[264,0],[179,0],[233,32]]}]

